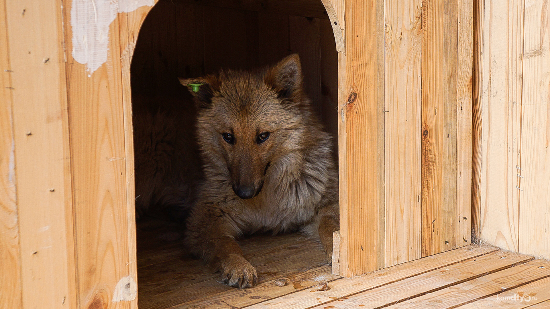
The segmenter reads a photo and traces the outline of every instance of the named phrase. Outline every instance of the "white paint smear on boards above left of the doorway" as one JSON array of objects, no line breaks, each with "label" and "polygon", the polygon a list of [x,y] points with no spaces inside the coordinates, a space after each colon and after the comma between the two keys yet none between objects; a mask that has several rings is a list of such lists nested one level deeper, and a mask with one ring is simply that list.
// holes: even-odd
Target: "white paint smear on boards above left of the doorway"
[{"label": "white paint smear on boards above left of the doorway", "polygon": [[107,62],[109,25],[117,14],[154,4],[155,0],[73,0],[70,10],[73,58],[86,64],[88,77]]}]

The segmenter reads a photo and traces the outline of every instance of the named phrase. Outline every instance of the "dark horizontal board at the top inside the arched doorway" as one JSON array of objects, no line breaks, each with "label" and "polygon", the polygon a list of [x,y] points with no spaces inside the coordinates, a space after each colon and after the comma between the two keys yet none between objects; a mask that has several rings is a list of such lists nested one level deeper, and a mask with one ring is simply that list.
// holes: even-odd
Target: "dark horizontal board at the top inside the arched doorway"
[{"label": "dark horizontal board at the top inside the arched doorway", "polygon": [[173,2],[328,19],[327,12],[319,0],[264,0],[261,2],[257,0],[173,0]]}]

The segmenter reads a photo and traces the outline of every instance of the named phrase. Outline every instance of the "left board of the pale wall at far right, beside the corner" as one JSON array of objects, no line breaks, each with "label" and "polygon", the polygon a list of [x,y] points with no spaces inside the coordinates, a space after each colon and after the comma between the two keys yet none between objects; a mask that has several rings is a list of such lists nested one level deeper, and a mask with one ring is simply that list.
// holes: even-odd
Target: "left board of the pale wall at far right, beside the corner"
[{"label": "left board of the pale wall at far right, beside the corner", "polygon": [[[475,114],[480,115],[481,134],[475,153],[480,167],[478,186],[481,241],[518,251],[519,150],[521,149],[521,88],[523,7],[517,0],[507,5],[483,3],[483,40],[477,74]],[[478,20],[481,23],[481,20]],[[481,29],[482,28],[482,29]],[[477,56],[477,55],[476,55]],[[477,201],[476,201],[477,203]]]}]

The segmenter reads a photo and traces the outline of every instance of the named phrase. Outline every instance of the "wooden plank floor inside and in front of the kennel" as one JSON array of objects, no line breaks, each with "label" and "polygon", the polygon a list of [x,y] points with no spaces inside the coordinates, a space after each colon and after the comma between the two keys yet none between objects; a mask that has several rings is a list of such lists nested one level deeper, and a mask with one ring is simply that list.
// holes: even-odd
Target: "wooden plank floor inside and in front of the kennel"
[{"label": "wooden plank floor inside and in front of the kennel", "polygon": [[[138,304],[164,308],[550,308],[550,262],[470,245],[354,278],[300,234],[240,242],[259,284],[239,290],[186,254],[177,225],[138,225]],[[284,278],[288,284],[276,286]],[[326,291],[313,285],[328,283]]]}]

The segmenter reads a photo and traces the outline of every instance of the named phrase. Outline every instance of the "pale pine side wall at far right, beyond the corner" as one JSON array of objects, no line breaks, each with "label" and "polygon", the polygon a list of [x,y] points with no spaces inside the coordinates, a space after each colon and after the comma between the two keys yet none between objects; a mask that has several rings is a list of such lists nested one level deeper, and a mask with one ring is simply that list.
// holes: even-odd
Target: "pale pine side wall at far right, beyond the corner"
[{"label": "pale pine side wall at far right, beyond the corner", "polygon": [[475,233],[550,258],[550,4],[475,4]]}]

